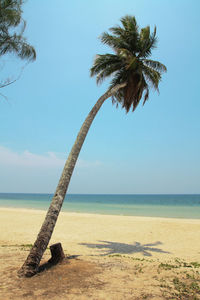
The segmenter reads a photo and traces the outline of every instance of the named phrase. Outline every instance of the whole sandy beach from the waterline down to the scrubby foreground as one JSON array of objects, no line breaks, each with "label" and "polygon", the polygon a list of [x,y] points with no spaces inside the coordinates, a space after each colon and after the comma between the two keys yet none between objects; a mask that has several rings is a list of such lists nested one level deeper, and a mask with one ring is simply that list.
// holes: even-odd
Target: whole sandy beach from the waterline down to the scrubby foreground
[{"label": "whole sandy beach from the waterline down to the scrubby foreground", "polygon": [[[188,299],[173,278],[187,285],[195,274],[199,283],[200,220],[66,212],[50,244],[61,242],[65,254],[76,257],[19,279],[17,270],[44,216],[45,211],[0,208],[0,299],[170,299],[172,290],[174,299]],[[42,263],[49,257],[47,250]],[[199,299],[198,288],[189,293]]]}]

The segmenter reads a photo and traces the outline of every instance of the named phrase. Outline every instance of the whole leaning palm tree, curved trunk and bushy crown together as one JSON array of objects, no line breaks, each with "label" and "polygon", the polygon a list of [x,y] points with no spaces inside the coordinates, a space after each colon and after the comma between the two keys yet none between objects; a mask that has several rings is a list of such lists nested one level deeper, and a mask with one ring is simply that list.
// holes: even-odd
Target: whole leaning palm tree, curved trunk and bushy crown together
[{"label": "whole leaning palm tree, curved trunk and bushy crown together", "polygon": [[97,76],[97,83],[112,76],[110,87],[98,99],[78,133],[38,237],[19,270],[21,276],[32,276],[38,270],[62,207],[81,147],[101,105],[106,99],[112,97],[113,103],[121,104],[126,112],[130,108],[134,111],[143,95],[143,104],[148,99],[149,85],[158,90],[161,73],[166,71],[163,64],[148,59],[152,49],[156,46],[156,28],[152,34],[149,26],[139,31],[136,19],[132,16],[125,16],[121,19],[121,23],[121,27],[110,28],[112,34],[105,32],[101,36],[101,41],[110,46],[114,54],[97,55],[91,68],[91,76]]}]

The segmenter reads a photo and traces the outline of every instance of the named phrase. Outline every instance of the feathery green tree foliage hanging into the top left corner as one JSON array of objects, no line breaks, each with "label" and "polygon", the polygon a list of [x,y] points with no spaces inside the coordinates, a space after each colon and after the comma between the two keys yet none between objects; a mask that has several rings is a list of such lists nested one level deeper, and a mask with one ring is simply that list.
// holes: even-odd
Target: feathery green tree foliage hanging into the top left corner
[{"label": "feathery green tree foliage hanging into the top left corner", "polygon": [[[12,53],[20,59],[28,61],[36,59],[35,49],[23,36],[26,22],[22,18],[22,4],[23,0],[0,0],[0,58]],[[3,80],[0,82],[0,88],[14,81],[16,79]]]}]

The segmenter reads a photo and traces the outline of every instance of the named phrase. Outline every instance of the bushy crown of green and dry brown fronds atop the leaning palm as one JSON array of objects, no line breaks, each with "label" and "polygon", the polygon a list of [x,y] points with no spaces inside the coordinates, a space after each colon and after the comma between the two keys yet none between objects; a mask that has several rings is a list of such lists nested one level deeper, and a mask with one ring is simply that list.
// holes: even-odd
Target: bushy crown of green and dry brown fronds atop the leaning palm
[{"label": "bushy crown of green and dry brown fronds atop the leaning palm", "polygon": [[167,68],[158,61],[148,59],[156,47],[156,27],[150,33],[147,26],[139,31],[136,19],[125,16],[121,19],[122,27],[110,28],[112,34],[104,32],[101,41],[110,46],[114,54],[97,55],[91,71],[91,76],[97,75],[97,83],[106,77],[113,76],[110,88],[126,83],[113,96],[113,103],[120,103],[126,112],[134,111],[143,94],[143,104],[149,97],[149,86],[158,90],[161,74]]}]

